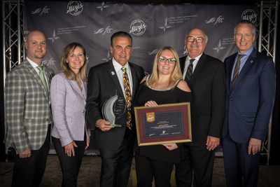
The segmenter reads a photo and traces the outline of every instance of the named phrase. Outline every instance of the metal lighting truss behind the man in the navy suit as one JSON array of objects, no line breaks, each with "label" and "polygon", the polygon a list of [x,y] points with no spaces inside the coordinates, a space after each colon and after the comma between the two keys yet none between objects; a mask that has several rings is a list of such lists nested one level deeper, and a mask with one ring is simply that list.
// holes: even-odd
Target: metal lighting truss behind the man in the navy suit
[{"label": "metal lighting truss behind the man in the navy suit", "polygon": [[[260,1],[259,20],[258,20],[258,51],[272,57],[276,60],[276,39],[278,22],[279,1]],[[262,145],[262,155],[267,156],[267,165],[269,165],[270,146],[272,134],[272,118],[269,120],[267,142]]]}]

